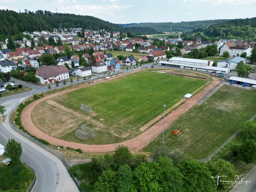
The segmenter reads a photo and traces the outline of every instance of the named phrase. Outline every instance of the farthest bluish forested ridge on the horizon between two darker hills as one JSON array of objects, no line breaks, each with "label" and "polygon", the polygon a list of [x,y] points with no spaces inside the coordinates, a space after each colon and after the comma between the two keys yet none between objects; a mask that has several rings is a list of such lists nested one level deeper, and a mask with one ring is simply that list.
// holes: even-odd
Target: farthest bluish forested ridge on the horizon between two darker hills
[{"label": "farthest bluish forested ridge on the horizon between two darker hills", "polygon": [[228,19],[219,20],[198,20],[198,21],[183,21],[180,23],[129,23],[118,24],[124,27],[151,27],[159,32],[191,32],[193,29],[206,28],[210,25],[227,21]]}]

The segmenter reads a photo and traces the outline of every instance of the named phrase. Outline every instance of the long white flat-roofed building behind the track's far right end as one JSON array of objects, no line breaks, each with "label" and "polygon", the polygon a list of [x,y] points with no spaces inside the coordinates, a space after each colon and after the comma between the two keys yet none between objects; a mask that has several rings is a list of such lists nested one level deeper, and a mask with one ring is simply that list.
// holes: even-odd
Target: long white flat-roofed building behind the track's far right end
[{"label": "long white flat-roofed building behind the track's far right end", "polygon": [[173,57],[170,58],[169,61],[160,61],[158,64],[162,66],[177,67],[186,70],[197,70],[207,72],[215,71],[216,73],[224,74],[227,74],[229,72],[228,68],[213,67],[213,61],[210,60]]}]

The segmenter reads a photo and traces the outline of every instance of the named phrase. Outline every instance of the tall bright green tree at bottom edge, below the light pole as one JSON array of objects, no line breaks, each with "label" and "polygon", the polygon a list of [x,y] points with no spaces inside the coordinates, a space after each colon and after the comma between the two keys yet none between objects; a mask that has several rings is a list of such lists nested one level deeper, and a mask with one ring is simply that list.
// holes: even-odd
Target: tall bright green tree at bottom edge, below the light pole
[{"label": "tall bright green tree at bottom edge, below the light pole", "polygon": [[185,191],[183,188],[183,175],[180,173],[179,169],[174,166],[172,160],[168,157],[160,157],[158,164],[163,170],[163,192]]}]

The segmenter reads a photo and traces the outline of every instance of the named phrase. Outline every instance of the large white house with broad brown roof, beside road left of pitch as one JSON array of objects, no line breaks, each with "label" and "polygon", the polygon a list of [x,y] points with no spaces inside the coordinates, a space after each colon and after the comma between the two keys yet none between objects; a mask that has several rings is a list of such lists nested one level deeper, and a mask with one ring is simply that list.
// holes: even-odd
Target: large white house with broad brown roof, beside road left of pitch
[{"label": "large white house with broad brown roof, beside road left of pitch", "polygon": [[35,76],[39,79],[41,84],[49,84],[69,79],[69,70],[64,65],[49,65],[36,68]]}]

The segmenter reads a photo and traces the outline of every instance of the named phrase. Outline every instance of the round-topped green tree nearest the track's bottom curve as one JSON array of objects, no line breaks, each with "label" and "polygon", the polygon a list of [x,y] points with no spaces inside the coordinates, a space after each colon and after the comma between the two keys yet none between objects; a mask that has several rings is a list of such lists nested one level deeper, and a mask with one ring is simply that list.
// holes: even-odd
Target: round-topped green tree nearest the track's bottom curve
[{"label": "round-topped green tree nearest the track's bottom curve", "polygon": [[118,145],[115,153],[113,154],[113,162],[118,167],[125,164],[130,165],[132,162],[132,154],[129,151],[129,148],[124,145]]}]

